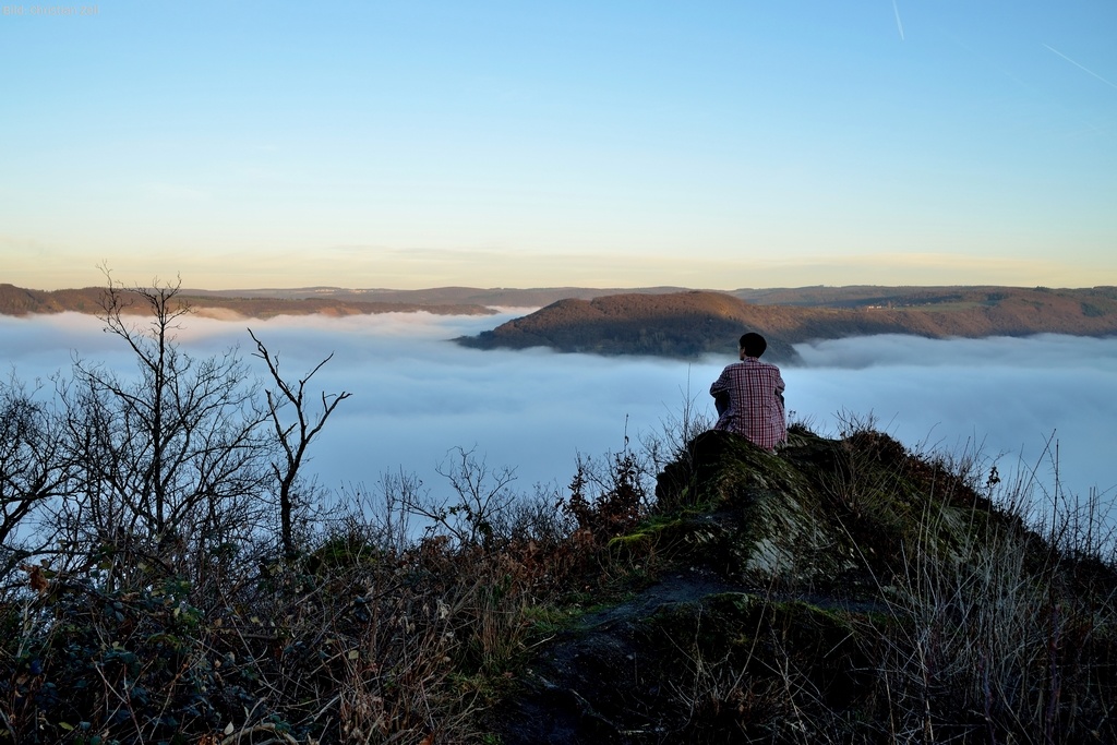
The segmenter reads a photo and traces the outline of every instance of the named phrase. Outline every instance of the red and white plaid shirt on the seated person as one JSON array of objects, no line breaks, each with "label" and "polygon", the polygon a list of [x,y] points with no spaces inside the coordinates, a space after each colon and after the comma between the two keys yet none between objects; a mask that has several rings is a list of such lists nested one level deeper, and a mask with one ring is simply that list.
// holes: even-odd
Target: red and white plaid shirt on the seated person
[{"label": "red and white plaid shirt on the seated person", "polygon": [[709,386],[715,398],[727,394],[729,404],[714,429],[743,434],[765,450],[773,450],[787,439],[783,390],[783,378],[775,365],[756,357],[733,363]]}]

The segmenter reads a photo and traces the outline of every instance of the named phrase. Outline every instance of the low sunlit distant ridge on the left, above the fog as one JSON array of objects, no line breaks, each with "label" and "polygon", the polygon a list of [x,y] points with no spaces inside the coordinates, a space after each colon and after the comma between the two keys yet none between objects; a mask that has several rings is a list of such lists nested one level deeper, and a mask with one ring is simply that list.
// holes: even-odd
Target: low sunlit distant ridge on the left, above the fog
[{"label": "low sunlit distant ridge on the left, above the fog", "polygon": [[[124,290],[128,293],[130,290]],[[101,313],[105,297],[104,287],[80,289],[39,290],[25,289],[15,285],[0,284],[0,315],[22,316],[32,313]],[[145,313],[147,306],[134,303],[136,313]],[[412,300],[362,300],[355,296],[336,297],[330,292],[299,295],[281,293],[260,294],[260,290],[239,294],[210,293],[207,290],[182,290],[178,302],[189,304],[199,315],[249,318],[270,318],[280,315],[332,315],[347,316],[369,313],[414,313],[427,312],[442,315],[490,315],[495,313],[484,305],[471,303],[419,303]]]}]

